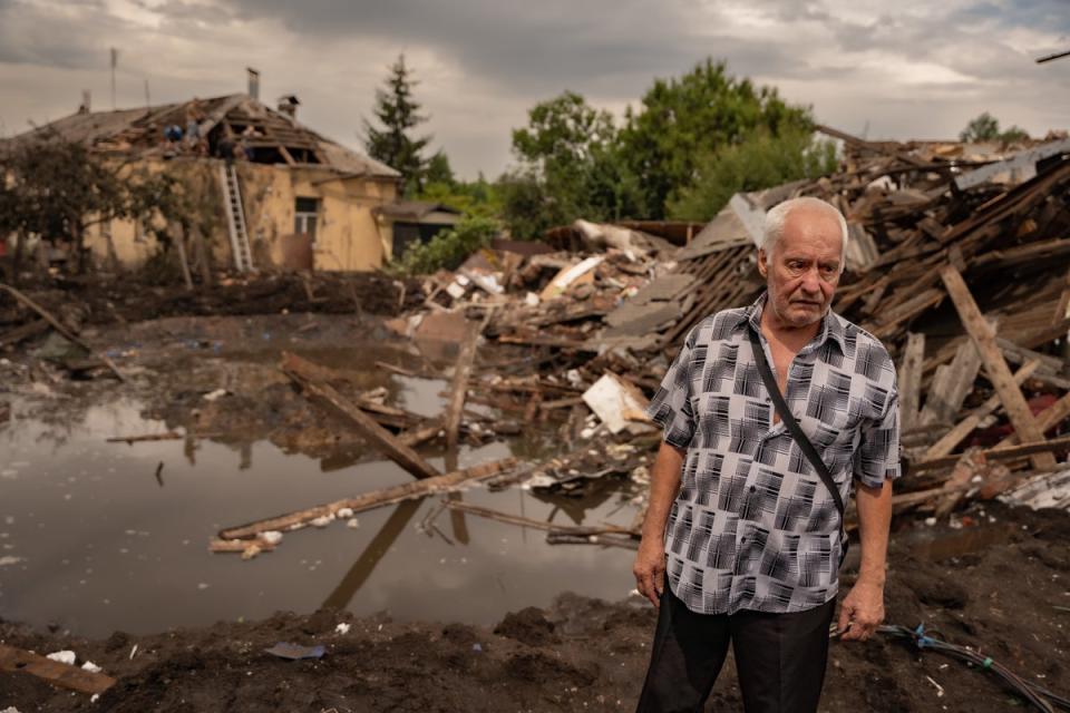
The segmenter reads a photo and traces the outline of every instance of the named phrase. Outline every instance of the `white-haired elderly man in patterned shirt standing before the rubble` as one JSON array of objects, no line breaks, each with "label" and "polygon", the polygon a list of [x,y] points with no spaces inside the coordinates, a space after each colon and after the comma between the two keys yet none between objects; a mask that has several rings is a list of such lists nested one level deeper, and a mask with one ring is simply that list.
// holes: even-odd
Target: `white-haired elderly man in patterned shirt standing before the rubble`
[{"label": "white-haired elderly man in patterned shirt standing before the rubble", "polygon": [[660,611],[640,711],[700,711],[729,642],[749,713],[817,710],[852,482],[862,564],[842,638],[884,618],[898,397],[881,342],[829,311],[846,245],[829,204],[774,207],[765,294],[697,324],[651,401],[664,442],[634,574]]}]

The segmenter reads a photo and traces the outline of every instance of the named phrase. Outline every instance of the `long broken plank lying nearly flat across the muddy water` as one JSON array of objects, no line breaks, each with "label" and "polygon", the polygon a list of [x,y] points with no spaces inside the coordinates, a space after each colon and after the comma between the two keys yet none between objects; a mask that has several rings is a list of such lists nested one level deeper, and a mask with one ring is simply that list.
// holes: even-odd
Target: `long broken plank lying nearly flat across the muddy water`
[{"label": "long broken plank lying nearly flat across the muddy water", "polygon": [[256,520],[247,525],[230,527],[220,530],[218,537],[223,540],[251,539],[269,530],[291,530],[304,527],[314,519],[337,516],[338,511],[348,508],[353,512],[362,512],[386,505],[393,505],[403,500],[412,500],[440,492],[453,492],[463,487],[502,475],[516,466],[515,458],[506,458],[473,468],[457,470],[445,476],[426,478],[416,482],[407,482],[391,488],[374,490],[356,498],[335,500],[325,505],[318,505],[304,510],[289,512],[276,517]]}]

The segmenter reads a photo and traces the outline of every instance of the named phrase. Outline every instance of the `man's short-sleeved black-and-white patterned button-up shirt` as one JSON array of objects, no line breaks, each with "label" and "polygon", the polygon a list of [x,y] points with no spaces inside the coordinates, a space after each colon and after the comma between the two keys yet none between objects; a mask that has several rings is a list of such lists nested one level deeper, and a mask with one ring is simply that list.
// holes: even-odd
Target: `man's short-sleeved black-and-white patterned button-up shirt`
[{"label": "man's short-sleeved black-and-white patterned button-up shirt", "polygon": [[[747,334],[761,334],[765,302],[692,328],[646,410],[668,443],[687,449],[665,568],[673,594],[700,614],[801,612],[837,592],[836,502],[784,422],[774,424]],[[875,336],[828,312],[792,360],[785,399],[844,502],[852,476],[873,487],[899,476],[895,365]]]}]

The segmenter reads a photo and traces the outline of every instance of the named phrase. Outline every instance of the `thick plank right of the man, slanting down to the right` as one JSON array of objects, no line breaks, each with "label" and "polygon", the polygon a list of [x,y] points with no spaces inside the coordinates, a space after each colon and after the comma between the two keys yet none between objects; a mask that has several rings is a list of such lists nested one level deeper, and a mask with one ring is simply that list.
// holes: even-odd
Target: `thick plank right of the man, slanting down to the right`
[{"label": "thick plank right of the man, slanting down to the right", "polygon": [[[995,333],[984,315],[981,314],[981,310],[977,309],[977,303],[974,302],[962,274],[954,265],[949,264],[940,271],[940,276],[963,325],[966,328],[966,332],[977,348],[989,380],[995,387],[996,393],[1000,394],[1000,400],[1003,401],[1003,407],[1006,409],[1014,430],[1025,441],[1042,441],[1044,433],[1037,426],[1037,420],[1025,402],[1025,397],[1022,395],[1022,390],[1014,383],[1014,377],[1011,375],[1011,370],[995,343]],[[1048,468],[1056,462],[1050,452],[1043,451],[1033,455],[1030,461],[1034,468]]]}]

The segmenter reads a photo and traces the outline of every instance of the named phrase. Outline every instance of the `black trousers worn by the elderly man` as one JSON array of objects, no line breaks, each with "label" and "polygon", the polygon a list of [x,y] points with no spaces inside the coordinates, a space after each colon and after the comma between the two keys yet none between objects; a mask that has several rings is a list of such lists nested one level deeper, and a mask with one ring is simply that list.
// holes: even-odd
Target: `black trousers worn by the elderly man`
[{"label": "black trousers worn by the elderly man", "polygon": [[833,599],[795,614],[696,614],[665,582],[639,713],[702,711],[729,642],[747,713],[814,713],[835,609]]}]

